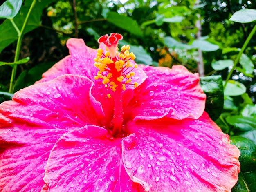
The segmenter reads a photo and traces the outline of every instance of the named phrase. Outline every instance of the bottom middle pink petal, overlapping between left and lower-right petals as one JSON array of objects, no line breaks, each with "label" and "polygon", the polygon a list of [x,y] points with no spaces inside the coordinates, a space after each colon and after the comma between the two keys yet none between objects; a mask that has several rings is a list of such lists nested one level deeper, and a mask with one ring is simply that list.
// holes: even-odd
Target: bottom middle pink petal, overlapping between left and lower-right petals
[{"label": "bottom middle pink petal, overlapping between left and lower-right petals", "polygon": [[64,134],[54,145],[43,191],[144,191],[133,183],[121,160],[121,139],[106,129],[86,125]]}]

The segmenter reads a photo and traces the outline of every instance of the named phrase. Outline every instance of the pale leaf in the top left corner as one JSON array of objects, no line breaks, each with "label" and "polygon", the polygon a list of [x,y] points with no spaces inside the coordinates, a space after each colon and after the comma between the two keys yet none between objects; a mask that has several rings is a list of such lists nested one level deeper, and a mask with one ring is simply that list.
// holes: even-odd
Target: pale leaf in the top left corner
[{"label": "pale leaf in the top left corner", "polygon": [[20,10],[22,0],[7,0],[0,6],[0,18],[12,19]]}]

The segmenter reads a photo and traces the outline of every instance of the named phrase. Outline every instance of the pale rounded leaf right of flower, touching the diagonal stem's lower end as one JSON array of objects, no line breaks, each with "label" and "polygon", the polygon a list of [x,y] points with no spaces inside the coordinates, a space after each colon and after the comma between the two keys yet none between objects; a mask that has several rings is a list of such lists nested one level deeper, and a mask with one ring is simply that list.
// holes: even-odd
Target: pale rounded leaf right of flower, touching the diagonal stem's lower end
[{"label": "pale rounded leaf right of flower, touching the diagonal stem's lower end", "polygon": [[[225,82],[223,82],[225,83]],[[246,87],[238,81],[229,80],[224,90],[225,96],[238,96],[246,92]]]}]

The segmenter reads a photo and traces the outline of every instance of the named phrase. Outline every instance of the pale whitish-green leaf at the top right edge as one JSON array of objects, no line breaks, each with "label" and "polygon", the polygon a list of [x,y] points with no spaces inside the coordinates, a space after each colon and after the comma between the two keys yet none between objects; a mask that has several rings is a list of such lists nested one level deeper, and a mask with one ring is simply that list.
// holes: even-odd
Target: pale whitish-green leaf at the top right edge
[{"label": "pale whitish-green leaf at the top right edge", "polygon": [[256,21],[256,10],[255,9],[241,9],[236,11],[231,18],[230,21],[247,23]]}]

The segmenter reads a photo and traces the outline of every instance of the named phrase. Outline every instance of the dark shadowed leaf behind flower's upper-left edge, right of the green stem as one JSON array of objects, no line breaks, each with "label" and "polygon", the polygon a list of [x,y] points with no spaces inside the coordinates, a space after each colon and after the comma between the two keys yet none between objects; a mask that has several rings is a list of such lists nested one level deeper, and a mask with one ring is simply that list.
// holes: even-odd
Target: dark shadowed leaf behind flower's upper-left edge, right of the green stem
[{"label": "dark shadowed leaf behind flower's upper-left edge, right of the green stem", "polygon": [[28,71],[23,71],[17,78],[14,91],[18,91],[24,87],[34,84],[42,78],[42,74],[47,71],[55,62],[40,63],[32,67]]}]

